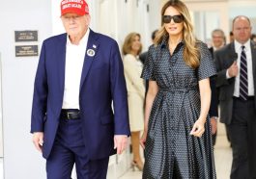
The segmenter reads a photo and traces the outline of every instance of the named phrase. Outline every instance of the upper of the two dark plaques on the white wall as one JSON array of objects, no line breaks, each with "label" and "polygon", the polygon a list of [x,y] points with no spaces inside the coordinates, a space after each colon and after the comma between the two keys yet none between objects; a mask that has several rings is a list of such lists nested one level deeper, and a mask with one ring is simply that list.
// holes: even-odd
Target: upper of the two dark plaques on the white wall
[{"label": "upper of the two dark plaques on the white wall", "polygon": [[38,41],[38,31],[15,31],[15,42]]}]

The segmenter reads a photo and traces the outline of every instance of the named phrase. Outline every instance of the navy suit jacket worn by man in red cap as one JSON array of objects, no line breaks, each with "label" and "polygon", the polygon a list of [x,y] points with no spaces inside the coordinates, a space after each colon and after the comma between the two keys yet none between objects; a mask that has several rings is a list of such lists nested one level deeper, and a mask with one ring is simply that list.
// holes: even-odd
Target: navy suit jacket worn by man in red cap
[{"label": "navy suit jacket worn by man in red cap", "polygon": [[[35,78],[31,132],[43,132],[44,158],[50,154],[62,110],[66,42],[67,34],[43,41]],[[95,54],[87,53],[88,49]],[[92,30],[85,50],[79,107],[89,158],[114,154],[114,135],[130,134],[123,62],[117,42]]]}]

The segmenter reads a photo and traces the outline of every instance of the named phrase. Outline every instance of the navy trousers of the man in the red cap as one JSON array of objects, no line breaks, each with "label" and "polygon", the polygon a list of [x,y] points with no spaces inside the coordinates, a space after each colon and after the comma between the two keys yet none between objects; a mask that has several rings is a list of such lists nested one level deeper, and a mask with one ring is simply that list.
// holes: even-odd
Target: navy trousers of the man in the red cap
[{"label": "navy trousers of the man in the red cap", "polygon": [[77,179],[105,179],[109,158],[88,159],[82,137],[81,119],[61,119],[51,154],[46,161],[47,179],[71,179],[73,165]]}]

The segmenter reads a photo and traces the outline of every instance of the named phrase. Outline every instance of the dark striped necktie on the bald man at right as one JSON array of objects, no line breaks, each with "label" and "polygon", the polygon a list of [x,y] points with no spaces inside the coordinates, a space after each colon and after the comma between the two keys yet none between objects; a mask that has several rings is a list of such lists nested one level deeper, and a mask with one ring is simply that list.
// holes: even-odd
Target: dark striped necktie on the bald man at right
[{"label": "dark striped necktie on the bald man at right", "polygon": [[240,65],[240,97],[243,100],[248,98],[248,77],[247,77],[247,61],[244,46],[242,45],[241,65]]}]

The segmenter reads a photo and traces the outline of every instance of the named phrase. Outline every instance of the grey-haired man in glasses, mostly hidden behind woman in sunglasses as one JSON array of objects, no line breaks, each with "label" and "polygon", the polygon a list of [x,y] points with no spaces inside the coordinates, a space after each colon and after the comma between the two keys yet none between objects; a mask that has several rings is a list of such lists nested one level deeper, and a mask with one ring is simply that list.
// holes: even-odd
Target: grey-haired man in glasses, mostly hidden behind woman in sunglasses
[{"label": "grey-haired man in glasses, mostly hidden behind woman in sunglasses", "polygon": [[[214,29],[212,32],[212,41],[213,46],[209,48],[211,54],[217,49],[223,47],[225,44],[225,34],[221,29]],[[212,135],[213,135],[213,145],[216,142],[216,133],[217,133],[217,117],[218,117],[218,101],[217,101],[217,89],[215,87],[215,76],[210,78],[211,90],[212,90],[212,98],[211,98],[211,107],[209,111],[209,115],[211,118],[211,127],[212,127]]]}]

